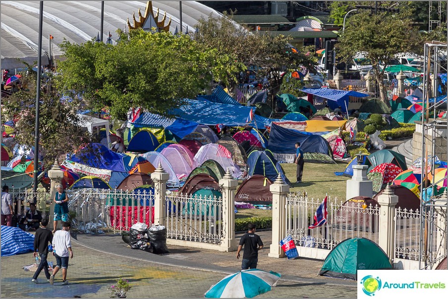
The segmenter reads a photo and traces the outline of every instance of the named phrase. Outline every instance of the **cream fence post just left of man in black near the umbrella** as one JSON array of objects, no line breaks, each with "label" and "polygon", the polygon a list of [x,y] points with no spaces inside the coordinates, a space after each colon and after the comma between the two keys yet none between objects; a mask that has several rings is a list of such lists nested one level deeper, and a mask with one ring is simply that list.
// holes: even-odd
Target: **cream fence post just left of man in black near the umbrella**
[{"label": "cream fence post just left of man in black near the umbrella", "polygon": [[235,239],[235,189],[238,187],[238,181],[232,178],[229,170],[219,182],[223,187],[223,233],[224,240],[221,247],[224,251],[230,252],[236,250]]}]

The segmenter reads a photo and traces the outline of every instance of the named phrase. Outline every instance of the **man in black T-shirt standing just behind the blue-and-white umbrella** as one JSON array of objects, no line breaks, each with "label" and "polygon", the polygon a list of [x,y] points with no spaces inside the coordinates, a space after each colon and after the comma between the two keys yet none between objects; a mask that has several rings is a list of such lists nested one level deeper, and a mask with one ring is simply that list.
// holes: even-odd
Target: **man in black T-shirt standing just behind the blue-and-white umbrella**
[{"label": "man in black T-shirt standing just behind the blue-and-white umbrella", "polygon": [[263,248],[260,236],[255,234],[255,224],[250,223],[248,229],[249,232],[239,240],[238,250],[236,251],[236,258],[239,259],[239,252],[244,246],[243,260],[241,262],[242,270],[257,268],[258,250]]}]

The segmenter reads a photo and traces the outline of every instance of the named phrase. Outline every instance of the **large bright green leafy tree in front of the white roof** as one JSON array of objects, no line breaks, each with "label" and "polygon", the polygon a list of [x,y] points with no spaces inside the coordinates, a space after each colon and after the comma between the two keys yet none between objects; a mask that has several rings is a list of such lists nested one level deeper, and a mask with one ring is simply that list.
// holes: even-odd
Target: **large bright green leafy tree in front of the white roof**
[{"label": "large bright green leafy tree in front of the white roof", "polygon": [[203,48],[184,34],[117,30],[116,45],[60,45],[57,86],[82,93],[88,108],[108,106],[112,117],[126,119],[130,107],[168,116],[183,99],[198,95],[212,78],[226,80],[238,71],[232,55]]}]

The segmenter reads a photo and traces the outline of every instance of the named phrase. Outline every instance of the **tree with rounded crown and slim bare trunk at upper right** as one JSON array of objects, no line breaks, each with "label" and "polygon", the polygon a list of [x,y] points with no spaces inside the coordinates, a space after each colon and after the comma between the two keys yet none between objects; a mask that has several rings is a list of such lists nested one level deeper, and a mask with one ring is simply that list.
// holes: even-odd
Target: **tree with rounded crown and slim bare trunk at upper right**
[{"label": "tree with rounded crown and slim bare trunk at upper right", "polygon": [[414,52],[422,45],[422,36],[413,26],[411,15],[411,10],[352,15],[349,22],[345,22],[345,30],[336,44],[336,55],[343,61],[350,61],[356,53],[365,53],[380,88],[380,99],[387,105],[389,100],[383,75],[390,59],[398,53]]}]

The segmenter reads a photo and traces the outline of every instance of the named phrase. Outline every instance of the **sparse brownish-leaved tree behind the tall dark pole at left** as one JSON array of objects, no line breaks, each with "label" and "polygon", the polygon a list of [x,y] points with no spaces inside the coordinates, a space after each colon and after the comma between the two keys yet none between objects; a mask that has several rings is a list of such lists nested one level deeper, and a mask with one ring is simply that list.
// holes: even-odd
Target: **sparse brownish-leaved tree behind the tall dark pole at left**
[{"label": "sparse brownish-leaved tree behind the tall dark pole at left", "polygon": [[[32,67],[28,65],[28,69]],[[29,149],[34,147],[36,120],[36,77],[34,71],[22,73],[24,89],[2,99],[4,106],[2,120],[14,120],[15,141]],[[42,91],[39,111],[39,149],[44,154],[43,166],[49,168],[55,159],[67,152],[73,152],[85,142],[89,135],[79,127],[79,101],[74,98],[61,100],[54,88],[51,73],[42,77]]]}]

